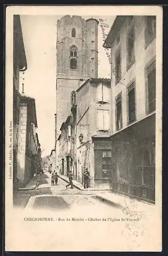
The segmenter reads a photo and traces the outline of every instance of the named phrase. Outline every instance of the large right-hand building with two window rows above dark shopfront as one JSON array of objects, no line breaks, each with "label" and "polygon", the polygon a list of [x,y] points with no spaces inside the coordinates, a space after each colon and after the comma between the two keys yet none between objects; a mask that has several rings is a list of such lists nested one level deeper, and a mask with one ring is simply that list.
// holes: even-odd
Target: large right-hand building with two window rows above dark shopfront
[{"label": "large right-hand building with two window rows above dark shopfront", "polygon": [[156,17],[117,16],[103,47],[111,48],[111,183],[155,202]]}]

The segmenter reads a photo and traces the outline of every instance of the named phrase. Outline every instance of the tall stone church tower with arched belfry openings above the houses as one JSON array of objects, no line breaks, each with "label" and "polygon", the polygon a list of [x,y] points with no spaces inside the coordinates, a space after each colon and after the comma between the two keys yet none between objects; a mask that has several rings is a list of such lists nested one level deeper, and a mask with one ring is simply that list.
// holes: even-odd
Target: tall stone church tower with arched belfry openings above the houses
[{"label": "tall stone church tower with arched belfry openings above the houses", "polygon": [[66,120],[70,94],[90,77],[98,75],[98,20],[66,15],[57,22],[57,114],[55,138]]}]

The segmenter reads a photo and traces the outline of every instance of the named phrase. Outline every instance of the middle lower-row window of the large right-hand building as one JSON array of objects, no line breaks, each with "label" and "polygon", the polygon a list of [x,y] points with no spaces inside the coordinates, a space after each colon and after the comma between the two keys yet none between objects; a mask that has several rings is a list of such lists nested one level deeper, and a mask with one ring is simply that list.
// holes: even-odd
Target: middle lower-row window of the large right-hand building
[{"label": "middle lower-row window of the large right-hand building", "polygon": [[128,122],[135,121],[135,87],[134,82],[128,87]]}]

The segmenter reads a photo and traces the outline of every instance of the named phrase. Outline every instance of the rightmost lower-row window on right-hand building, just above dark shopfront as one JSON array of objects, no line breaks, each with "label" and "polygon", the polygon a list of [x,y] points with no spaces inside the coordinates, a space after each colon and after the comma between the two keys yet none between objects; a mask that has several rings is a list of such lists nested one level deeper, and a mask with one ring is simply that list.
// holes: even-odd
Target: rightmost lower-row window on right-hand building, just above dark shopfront
[{"label": "rightmost lower-row window on right-hand building, just above dark shopfront", "polygon": [[156,67],[155,62],[147,69],[148,113],[156,109]]}]

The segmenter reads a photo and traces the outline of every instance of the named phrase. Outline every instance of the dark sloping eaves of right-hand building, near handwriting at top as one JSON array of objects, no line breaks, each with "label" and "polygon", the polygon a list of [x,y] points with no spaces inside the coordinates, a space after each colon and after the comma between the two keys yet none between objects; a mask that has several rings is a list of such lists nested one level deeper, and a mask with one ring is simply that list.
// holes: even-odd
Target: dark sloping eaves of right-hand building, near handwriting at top
[{"label": "dark sloping eaves of right-hand building, near handwriting at top", "polygon": [[126,15],[116,16],[114,23],[111,26],[106,39],[104,40],[104,44],[103,44],[104,48],[111,48],[111,46],[114,42],[114,39],[116,38],[116,35],[118,34],[121,26],[125,22],[126,17],[127,17]]}]

